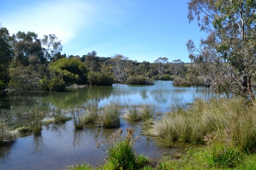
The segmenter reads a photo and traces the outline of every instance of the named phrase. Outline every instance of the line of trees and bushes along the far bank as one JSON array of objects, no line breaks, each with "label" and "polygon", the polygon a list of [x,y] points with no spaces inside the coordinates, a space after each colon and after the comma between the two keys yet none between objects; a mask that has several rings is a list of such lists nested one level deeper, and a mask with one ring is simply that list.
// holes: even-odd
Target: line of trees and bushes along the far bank
[{"label": "line of trees and bushes along the far bank", "polygon": [[158,58],[153,63],[132,61],[116,54],[99,57],[96,51],[82,57],[61,54],[63,46],[54,34],[38,38],[35,32],[9,31],[0,26],[0,92],[11,90],[64,91],[73,84],[110,86],[113,83],[153,84],[152,79],[185,76],[180,60]]}]

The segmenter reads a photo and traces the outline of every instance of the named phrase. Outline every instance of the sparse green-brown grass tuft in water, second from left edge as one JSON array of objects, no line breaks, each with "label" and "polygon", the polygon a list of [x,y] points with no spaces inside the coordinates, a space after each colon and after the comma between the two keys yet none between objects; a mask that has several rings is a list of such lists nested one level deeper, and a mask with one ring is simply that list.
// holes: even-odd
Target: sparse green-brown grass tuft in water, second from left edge
[{"label": "sparse green-brown grass tuft in water, second from left edge", "polygon": [[40,109],[36,104],[28,112],[23,112],[23,118],[28,121],[30,132],[33,134],[41,133],[43,130],[43,119],[46,117],[46,112]]}]

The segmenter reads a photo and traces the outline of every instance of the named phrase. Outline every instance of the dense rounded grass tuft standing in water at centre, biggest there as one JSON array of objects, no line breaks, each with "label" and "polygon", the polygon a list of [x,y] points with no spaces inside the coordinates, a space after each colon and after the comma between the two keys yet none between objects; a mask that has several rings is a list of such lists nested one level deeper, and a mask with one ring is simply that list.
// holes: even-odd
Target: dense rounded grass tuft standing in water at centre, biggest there
[{"label": "dense rounded grass tuft standing in water at centre, biggest there", "polygon": [[106,104],[99,110],[96,125],[104,128],[120,127],[120,109],[121,106],[118,103]]}]

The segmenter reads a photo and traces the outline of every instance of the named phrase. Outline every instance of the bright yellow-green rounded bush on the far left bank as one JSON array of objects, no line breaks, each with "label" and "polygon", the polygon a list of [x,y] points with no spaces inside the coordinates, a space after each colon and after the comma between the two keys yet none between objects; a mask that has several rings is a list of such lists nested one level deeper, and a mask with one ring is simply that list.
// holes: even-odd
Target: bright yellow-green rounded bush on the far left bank
[{"label": "bright yellow-green rounded bush on the far left bank", "polygon": [[63,80],[70,85],[87,83],[87,69],[81,61],[70,58],[61,58],[49,66],[49,71],[55,71],[56,75],[62,73]]}]

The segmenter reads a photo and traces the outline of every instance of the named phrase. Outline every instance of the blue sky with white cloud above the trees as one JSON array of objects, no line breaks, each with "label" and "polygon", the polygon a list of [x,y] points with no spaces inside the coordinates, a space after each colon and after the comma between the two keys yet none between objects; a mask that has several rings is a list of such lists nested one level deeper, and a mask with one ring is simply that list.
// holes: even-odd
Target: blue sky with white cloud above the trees
[{"label": "blue sky with white cloud above the trees", "polygon": [[201,37],[188,23],[188,0],[0,0],[0,23],[10,34],[55,34],[67,55],[124,55],[139,62],[159,57],[190,62],[186,42]]}]

